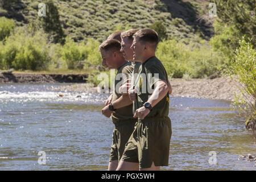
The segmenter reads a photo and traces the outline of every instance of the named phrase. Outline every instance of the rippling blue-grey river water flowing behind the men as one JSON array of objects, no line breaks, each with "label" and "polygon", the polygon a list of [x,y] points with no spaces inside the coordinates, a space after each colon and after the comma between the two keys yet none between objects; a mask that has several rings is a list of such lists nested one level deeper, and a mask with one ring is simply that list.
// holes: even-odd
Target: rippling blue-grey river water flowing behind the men
[{"label": "rippling blue-grey river water flowing behind the men", "polygon": [[[0,170],[107,169],[114,126],[100,110],[108,95],[59,97],[52,88],[60,85],[0,84]],[[162,169],[256,170],[238,160],[256,155],[256,139],[230,102],[174,97],[170,118],[170,165]]]}]

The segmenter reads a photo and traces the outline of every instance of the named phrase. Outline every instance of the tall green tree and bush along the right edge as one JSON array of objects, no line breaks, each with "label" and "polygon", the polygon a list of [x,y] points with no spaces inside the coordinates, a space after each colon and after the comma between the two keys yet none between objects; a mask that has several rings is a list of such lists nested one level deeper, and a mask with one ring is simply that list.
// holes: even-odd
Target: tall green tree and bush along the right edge
[{"label": "tall green tree and bush along the right edge", "polygon": [[215,35],[210,44],[228,60],[226,73],[234,75],[243,85],[241,95],[236,96],[234,104],[246,114],[246,127],[253,129],[256,123],[255,0],[214,2],[218,19],[214,22]]}]

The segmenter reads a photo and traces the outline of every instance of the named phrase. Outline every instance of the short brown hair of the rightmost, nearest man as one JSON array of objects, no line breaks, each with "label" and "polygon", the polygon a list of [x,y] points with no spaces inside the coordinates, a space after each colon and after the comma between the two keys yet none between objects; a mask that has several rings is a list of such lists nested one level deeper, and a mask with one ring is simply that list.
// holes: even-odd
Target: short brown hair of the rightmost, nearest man
[{"label": "short brown hair of the rightmost, nearest man", "polygon": [[137,31],[134,36],[137,36],[139,41],[155,43],[156,46],[159,43],[158,33],[150,28],[143,28]]}]

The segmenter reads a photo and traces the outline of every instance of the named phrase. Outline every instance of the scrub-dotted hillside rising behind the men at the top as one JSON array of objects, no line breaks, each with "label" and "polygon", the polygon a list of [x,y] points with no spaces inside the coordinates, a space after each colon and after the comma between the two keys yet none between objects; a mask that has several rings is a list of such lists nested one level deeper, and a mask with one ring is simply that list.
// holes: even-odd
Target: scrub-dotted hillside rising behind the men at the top
[{"label": "scrub-dotted hillside rising behind the men at the top", "polygon": [[[0,16],[15,19],[18,26],[35,22],[38,3],[32,0],[0,1]],[[208,1],[179,0],[57,0],[60,23],[65,35],[75,41],[104,40],[109,34],[127,28],[150,27],[160,21],[169,38],[183,42],[208,40],[212,24],[206,20]]]}]

